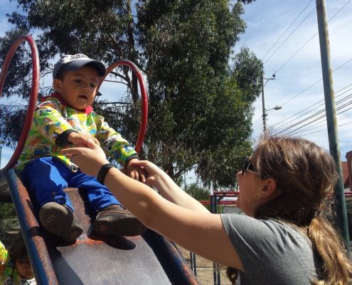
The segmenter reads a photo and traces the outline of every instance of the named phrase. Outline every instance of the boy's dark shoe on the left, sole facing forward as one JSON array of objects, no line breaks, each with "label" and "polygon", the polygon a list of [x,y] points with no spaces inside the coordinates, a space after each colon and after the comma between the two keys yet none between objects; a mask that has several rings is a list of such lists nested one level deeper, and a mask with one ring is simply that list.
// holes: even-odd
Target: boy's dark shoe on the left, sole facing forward
[{"label": "boy's dark shoe on the left, sole facing forward", "polygon": [[66,242],[75,242],[83,229],[72,209],[65,204],[48,202],[41,207],[39,218],[44,229],[62,237]]}]

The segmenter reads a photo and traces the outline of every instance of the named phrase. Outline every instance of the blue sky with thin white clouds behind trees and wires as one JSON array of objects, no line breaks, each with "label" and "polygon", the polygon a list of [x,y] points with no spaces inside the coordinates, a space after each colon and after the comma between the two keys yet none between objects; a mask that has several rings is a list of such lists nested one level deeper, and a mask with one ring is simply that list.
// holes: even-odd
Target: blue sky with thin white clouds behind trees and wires
[{"label": "blue sky with thin white clouds behind trees and wires", "polygon": [[[326,120],[316,120],[319,117],[316,113],[325,113],[315,5],[315,0],[257,0],[245,5],[243,19],[247,29],[240,36],[235,52],[247,46],[265,63],[265,78],[276,74],[276,79],[265,85],[267,128],[273,134],[282,132],[312,140],[329,150]],[[352,150],[352,110],[348,110],[352,100],[349,99],[352,94],[349,86],[352,84],[352,1],[327,0],[326,7],[336,108],[341,108],[337,111],[338,136],[341,160],[345,161],[346,152]],[[1,36],[11,28],[5,15],[14,9],[16,1],[0,0]],[[276,105],[282,109],[270,110]],[[261,97],[254,107],[255,142],[262,132]],[[306,119],[309,116],[311,120]],[[297,125],[292,127],[294,124]],[[11,153],[4,147],[1,167]]]}]

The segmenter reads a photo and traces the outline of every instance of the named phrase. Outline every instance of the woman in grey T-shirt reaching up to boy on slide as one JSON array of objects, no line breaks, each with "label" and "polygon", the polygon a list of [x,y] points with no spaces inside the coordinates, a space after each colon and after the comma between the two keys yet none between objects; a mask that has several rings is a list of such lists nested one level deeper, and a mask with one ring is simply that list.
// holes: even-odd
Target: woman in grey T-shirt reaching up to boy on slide
[{"label": "woman in grey T-shirt reaching up to boy on slide", "polygon": [[334,160],[313,142],[261,140],[236,175],[237,206],[245,215],[210,214],[151,162],[135,162],[159,195],[111,167],[93,142],[90,147],[63,153],[97,175],[147,227],[228,266],[233,284],[351,284],[351,261],[324,214],[337,179]]}]

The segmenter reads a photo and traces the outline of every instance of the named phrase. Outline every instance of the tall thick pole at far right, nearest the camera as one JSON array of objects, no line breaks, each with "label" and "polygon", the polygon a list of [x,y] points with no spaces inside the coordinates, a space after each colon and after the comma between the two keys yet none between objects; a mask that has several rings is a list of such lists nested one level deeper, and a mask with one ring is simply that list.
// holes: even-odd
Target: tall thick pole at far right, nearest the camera
[{"label": "tall thick pole at far right, nearest the camera", "polygon": [[337,224],[346,242],[346,249],[351,256],[350,239],[346,213],[345,193],[343,189],[343,176],[341,166],[340,147],[338,145],[338,128],[336,119],[335,95],[330,63],[329,31],[326,21],[325,0],[316,0],[316,14],[318,18],[319,42],[321,55],[321,70],[323,72],[324,97],[326,107],[326,123],[328,126],[329,150],[336,162],[338,170],[338,184],[334,188]]}]

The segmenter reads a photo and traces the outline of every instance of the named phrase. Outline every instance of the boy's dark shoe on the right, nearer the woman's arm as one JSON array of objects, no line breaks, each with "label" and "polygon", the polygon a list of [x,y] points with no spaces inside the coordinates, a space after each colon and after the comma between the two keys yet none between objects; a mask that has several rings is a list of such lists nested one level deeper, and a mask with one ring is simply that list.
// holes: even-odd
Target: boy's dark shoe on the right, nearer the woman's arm
[{"label": "boy's dark shoe on the right, nearer the woman's arm", "polygon": [[146,226],[139,222],[134,214],[122,208],[118,204],[105,207],[97,214],[93,222],[93,229],[97,234],[134,237],[143,234]]}]

